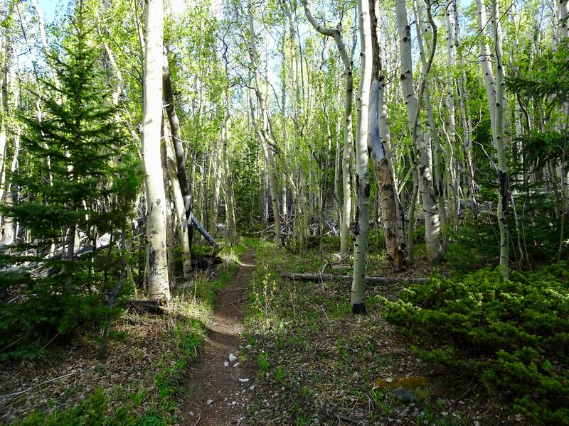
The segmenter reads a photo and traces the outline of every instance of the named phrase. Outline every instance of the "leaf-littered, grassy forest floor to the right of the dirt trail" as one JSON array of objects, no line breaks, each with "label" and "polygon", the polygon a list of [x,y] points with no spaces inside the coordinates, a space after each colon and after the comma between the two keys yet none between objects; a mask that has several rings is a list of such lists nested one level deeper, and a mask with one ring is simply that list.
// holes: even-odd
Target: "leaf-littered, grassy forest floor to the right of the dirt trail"
[{"label": "leaf-littered, grassy forest floor to the right of the dirt trail", "polygon": [[[255,393],[249,425],[520,425],[496,395],[467,376],[423,364],[383,318],[381,297],[395,300],[398,284],[366,285],[368,315],[353,317],[350,282],[307,283],[280,272],[351,273],[335,261],[335,244],[302,254],[257,247],[243,336]],[[368,256],[368,275],[447,274],[418,258],[400,275],[385,256]]]}]

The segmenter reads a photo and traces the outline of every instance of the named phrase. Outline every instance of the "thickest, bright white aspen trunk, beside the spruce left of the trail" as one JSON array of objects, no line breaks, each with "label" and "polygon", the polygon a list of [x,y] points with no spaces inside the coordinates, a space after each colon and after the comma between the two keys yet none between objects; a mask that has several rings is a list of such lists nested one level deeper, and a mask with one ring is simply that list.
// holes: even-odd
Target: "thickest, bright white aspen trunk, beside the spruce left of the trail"
[{"label": "thickest, bright white aspen trunk, beside the spruce left of the trail", "polygon": [[166,254],[166,194],[160,153],[162,117],[162,43],[164,30],[162,0],[148,0],[144,43],[144,111],[142,152],[149,211],[147,215],[149,298],[169,302]]}]

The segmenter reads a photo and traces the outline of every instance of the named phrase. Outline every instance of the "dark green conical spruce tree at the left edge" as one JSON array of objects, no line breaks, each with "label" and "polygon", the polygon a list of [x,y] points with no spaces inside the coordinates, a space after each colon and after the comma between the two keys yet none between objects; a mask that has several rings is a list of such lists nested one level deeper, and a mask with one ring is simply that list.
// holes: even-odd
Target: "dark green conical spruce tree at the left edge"
[{"label": "dark green conical spruce tree at the left edge", "polygon": [[117,241],[143,178],[85,20],[80,1],[62,52],[50,58],[57,80],[43,81],[50,91],[41,97],[43,116],[22,116],[26,157],[9,179],[26,197],[0,211],[31,243],[0,252],[0,269],[11,268],[1,274],[0,294],[12,296],[0,305],[0,346],[9,349],[0,359],[36,356],[46,341],[100,324],[121,269],[115,244],[82,256],[68,249],[76,235],[91,246],[104,234]]}]

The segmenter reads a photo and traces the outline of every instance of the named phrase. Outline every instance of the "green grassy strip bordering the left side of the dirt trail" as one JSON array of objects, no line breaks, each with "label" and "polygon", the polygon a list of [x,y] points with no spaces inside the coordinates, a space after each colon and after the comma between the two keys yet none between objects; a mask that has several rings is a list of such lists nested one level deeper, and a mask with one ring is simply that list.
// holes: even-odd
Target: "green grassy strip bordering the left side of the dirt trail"
[{"label": "green grassy strip bordering the left side of the dirt trail", "polygon": [[[171,306],[160,320],[164,329],[156,336],[164,350],[147,373],[153,377],[151,387],[127,391],[126,386],[110,383],[97,388],[77,405],[51,413],[33,412],[18,426],[166,426],[176,424],[179,395],[188,364],[197,356],[198,347],[206,336],[208,317],[218,290],[227,285],[238,270],[238,256],[246,251],[242,241],[233,248],[219,251],[224,259],[216,278],[198,276],[191,285],[181,285],[174,293]],[[156,321],[156,317],[141,315],[138,320]],[[158,342],[157,342],[158,343]],[[120,343],[118,343],[120,344]],[[139,351],[124,347],[123,351]],[[142,354],[140,355],[142,356]],[[124,368],[128,368],[125,366]]]}]

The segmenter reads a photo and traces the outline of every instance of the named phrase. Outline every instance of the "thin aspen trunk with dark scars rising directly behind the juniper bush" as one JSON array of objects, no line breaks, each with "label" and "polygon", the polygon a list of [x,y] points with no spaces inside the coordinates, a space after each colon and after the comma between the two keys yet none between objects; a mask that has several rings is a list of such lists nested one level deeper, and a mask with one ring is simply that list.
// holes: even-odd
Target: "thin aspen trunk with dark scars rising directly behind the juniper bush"
[{"label": "thin aspen trunk with dark scars rising directly behind the juniper bush", "polygon": [[[480,0],[479,0],[480,1]],[[509,277],[509,182],[506,166],[506,141],[504,140],[504,65],[502,62],[501,28],[498,15],[497,0],[490,0],[492,8],[492,29],[494,32],[494,49],[496,55],[496,132],[494,133],[494,146],[498,153],[498,209],[496,217],[500,229],[500,271],[504,278]]]}]

